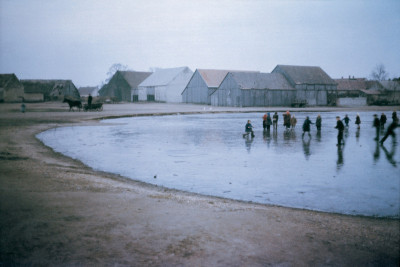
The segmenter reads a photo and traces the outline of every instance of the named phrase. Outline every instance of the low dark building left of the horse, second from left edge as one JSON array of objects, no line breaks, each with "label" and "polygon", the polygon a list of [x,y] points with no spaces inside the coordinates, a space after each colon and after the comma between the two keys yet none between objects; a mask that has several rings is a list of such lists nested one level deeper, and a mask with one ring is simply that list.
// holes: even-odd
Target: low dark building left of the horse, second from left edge
[{"label": "low dark building left of the horse, second from left edge", "polygon": [[40,102],[63,100],[64,97],[80,99],[79,91],[71,80],[21,80],[25,101]]}]

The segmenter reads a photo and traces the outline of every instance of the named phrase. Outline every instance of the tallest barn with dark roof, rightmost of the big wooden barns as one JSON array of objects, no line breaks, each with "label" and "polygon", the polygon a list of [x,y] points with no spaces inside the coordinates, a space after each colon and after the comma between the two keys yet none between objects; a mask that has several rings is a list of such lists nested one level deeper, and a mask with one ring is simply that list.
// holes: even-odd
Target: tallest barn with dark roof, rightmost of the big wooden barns
[{"label": "tallest barn with dark roof, rightmost of the big wooden barns", "polygon": [[272,73],[281,73],[296,89],[295,102],[307,105],[335,105],[337,84],[320,67],[277,65]]}]

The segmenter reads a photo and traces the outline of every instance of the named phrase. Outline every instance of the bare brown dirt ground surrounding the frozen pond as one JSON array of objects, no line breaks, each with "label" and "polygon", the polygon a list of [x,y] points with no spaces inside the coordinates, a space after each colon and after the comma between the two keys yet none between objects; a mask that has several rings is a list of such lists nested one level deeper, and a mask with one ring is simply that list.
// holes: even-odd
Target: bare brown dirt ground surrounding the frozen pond
[{"label": "bare brown dirt ground surrounding the frozen pond", "polygon": [[53,102],[27,104],[22,114],[19,104],[0,104],[0,266],[398,266],[398,219],[151,186],[96,172],[35,138],[101,117],[265,110],[127,103],[68,112]]}]

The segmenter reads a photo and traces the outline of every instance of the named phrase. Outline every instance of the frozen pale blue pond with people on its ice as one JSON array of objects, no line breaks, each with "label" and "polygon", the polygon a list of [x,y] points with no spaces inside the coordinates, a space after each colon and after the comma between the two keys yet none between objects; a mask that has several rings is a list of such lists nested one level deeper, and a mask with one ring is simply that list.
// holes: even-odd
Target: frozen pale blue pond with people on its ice
[{"label": "frozen pale blue pond with people on its ice", "polygon": [[[336,147],[336,115],[324,112],[322,130],[293,113],[286,131],[263,132],[263,113],[174,115],[104,120],[99,126],[51,129],[38,138],[95,170],[205,195],[344,214],[399,217],[399,146],[373,140],[375,112],[349,112],[346,145]],[[380,112],[376,112],[381,114]],[[271,113],[272,115],[272,113]],[[391,112],[386,112],[388,122]],[[243,138],[251,119],[255,138]],[[388,124],[386,124],[386,128]],[[398,132],[398,129],[396,130]],[[398,138],[398,136],[397,136]]]}]

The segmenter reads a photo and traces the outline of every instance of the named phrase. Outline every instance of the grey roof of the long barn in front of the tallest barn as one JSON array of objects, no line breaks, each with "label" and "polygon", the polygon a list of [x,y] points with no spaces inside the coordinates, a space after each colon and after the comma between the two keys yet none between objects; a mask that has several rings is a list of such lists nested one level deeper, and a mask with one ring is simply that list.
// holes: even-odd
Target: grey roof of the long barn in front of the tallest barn
[{"label": "grey roof of the long barn in front of the tallest barn", "polygon": [[231,72],[241,89],[294,89],[280,73]]}]

